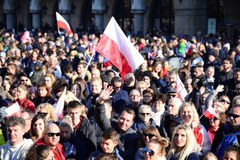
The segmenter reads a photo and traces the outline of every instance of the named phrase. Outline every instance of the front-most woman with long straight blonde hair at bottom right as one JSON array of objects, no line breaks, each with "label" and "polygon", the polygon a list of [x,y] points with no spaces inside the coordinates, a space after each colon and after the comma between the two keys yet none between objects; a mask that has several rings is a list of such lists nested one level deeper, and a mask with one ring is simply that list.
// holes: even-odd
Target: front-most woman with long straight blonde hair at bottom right
[{"label": "front-most woman with long straight blonde hair at bottom right", "polygon": [[198,144],[192,129],[180,124],[173,132],[167,160],[198,160]]}]

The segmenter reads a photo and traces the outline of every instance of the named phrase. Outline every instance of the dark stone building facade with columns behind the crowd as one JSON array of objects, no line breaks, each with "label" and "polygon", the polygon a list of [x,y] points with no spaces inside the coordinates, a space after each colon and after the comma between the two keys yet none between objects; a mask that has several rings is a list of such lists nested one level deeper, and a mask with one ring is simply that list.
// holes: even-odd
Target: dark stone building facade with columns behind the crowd
[{"label": "dark stone building facade with columns behind the crowd", "polygon": [[0,0],[1,27],[56,30],[56,11],[72,29],[103,32],[112,16],[125,32],[196,35],[240,28],[238,0]]}]

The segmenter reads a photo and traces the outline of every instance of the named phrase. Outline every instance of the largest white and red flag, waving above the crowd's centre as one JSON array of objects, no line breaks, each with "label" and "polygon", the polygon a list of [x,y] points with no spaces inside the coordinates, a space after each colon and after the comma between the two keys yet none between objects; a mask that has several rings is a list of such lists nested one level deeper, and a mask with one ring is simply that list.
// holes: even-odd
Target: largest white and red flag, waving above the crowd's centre
[{"label": "largest white and red flag, waving above the crowd's centre", "polygon": [[114,17],[111,18],[103,32],[96,51],[119,69],[122,79],[127,73],[137,69],[144,60],[123,33]]}]

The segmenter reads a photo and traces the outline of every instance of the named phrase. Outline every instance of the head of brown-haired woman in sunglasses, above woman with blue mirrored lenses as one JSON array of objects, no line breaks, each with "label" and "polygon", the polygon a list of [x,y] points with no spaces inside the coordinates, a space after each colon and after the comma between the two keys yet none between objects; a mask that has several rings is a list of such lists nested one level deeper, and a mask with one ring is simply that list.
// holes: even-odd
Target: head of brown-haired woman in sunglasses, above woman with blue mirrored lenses
[{"label": "head of brown-haired woman in sunglasses, above woman with blue mirrored lenses", "polygon": [[142,133],[143,142],[146,145],[150,140],[160,138],[160,133],[158,129],[154,126],[148,126],[143,130]]}]

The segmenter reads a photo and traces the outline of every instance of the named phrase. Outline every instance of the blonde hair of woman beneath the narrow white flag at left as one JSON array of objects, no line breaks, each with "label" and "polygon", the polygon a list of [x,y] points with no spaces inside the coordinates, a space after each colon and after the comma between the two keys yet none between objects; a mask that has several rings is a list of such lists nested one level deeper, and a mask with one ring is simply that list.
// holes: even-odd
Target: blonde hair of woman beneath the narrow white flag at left
[{"label": "blonde hair of woman beneath the narrow white flag at left", "polygon": [[41,103],[40,105],[38,105],[37,108],[36,108],[36,111],[35,111],[36,114],[39,112],[40,109],[46,109],[47,110],[47,112],[49,114],[48,121],[56,122],[58,120],[58,117],[55,113],[55,109],[50,103]]}]

